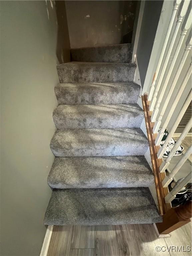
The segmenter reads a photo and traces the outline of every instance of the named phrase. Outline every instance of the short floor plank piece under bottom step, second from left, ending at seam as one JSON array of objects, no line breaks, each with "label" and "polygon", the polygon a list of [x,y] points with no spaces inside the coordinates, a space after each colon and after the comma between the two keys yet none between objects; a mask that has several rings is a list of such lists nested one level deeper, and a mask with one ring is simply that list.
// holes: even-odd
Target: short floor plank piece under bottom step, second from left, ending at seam
[{"label": "short floor plank piece under bottom step, second from left, ending at seam", "polygon": [[73,226],[71,249],[94,248],[94,226]]}]

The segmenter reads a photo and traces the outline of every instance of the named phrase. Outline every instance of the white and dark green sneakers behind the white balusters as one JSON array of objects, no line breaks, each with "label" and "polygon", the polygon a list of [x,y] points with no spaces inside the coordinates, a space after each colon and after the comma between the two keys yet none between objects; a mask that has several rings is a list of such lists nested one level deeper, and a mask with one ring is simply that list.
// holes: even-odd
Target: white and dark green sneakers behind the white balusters
[{"label": "white and dark green sneakers behind the white balusters", "polygon": [[[160,132],[160,131],[161,131],[161,128],[158,129],[158,132]],[[163,133],[163,135],[164,135],[164,136],[163,136],[163,138],[162,138],[162,141],[161,141],[161,143],[160,143],[160,146],[162,146],[162,145],[165,143],[165,140],[166,140],[166,138],[167,138],[167,136],[168,136],[168,130],[167,130],[167,129],[165,130],[165,132]],[[165,153],[163,154],[163,157],[168,157],[168,155],[169,155],[169,153],[171,152],[172,148],[175,146],[175,143],[176,143],[176,141],[175,141],[173,138],[171,138],[170,141],[169,141],[169,143],[168,143],[168,145],[167,145],[167,147],[166,147],[166,151],[165,151]],[[184,147],[182,147],[182,146],[180,145],[180,146],[178,147],[177,151],[175,152],[174,156],[180,156],[180,155],[182,155],[183,150],[184,150]]]}]

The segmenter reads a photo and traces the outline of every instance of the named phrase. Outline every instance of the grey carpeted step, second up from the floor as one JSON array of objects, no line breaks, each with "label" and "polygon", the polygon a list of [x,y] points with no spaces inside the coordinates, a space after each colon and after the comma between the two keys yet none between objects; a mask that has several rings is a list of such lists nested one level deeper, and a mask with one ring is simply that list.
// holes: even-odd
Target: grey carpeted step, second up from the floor
[{"label": "grey carpeted step, second up from the floor", "polygon": [[144,156],[56,157],[48,184],[52,188],[149,187],[154,175]]}]

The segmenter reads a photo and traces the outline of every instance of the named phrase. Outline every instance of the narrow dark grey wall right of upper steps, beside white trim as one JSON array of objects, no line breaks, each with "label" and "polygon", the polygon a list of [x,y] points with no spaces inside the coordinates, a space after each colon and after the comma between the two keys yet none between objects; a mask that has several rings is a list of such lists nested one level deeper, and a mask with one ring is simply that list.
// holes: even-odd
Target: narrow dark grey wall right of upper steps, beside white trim
[{"label": "narrow dark grey wall right of upper steps, beside white trim", "polygon": [[143,87],[163,1],[145,1],[142,25],[137,46],[137,63]]}]

